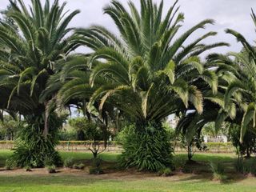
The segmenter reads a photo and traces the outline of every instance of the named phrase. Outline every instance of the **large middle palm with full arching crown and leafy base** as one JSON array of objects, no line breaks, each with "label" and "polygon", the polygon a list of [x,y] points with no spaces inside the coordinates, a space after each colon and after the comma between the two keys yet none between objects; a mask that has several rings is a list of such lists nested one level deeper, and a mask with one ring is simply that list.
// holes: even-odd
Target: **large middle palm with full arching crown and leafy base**
[{"label": "large middle palm with full arching crown and leafy base", "polygon": [[[67,101],[74,95],[86,93],[90,98],[88,110],[95,102],[99,103],[99,110],[111,104],[133,120],[137,135],[152,135],[148,129],[152,126],[157,135],[163,131],[163,118],[187,108],[202,113],[201,89],[211,87],[215,93],[218,78],[203,66],[198,56],[214,47],[226,46],[226,43],[203,44],[202,40],[214,36],[214,32],[208,32],[190,44],[185,43],[190,34],[212,24],[210,19],[176,37],[184,18],[175,8],[177,3],[174,2],[163,17],[163,2],[155,5],[151,0],[142,0],[140,11],[129,2],[128,12],[120,2],[112,1],[104,12],[118,27],[120,38],[102,26],[77,30],[80,43],[93,50],[84,65],[90,77],[88,73],[84,77],[79,74],[74,78],[74,89],[71,88],[73,83],[66,82],[70,85],[66,84],[66,90],[59,92],[59,100]],[[104,83],[100,82],[102,79]],[[161,133],[165,134],[164,131]],[[135,149],[137,151],[125,149],[124,156],[143,154],[140,150],[149,140],[138,140],[136,142],[140,142],[138,146],[141,147]],[[137,162],[138,157],[126,158],[126,166],[150,170],[165,166],[170,158],[170,148],[166,140],[163,143],[157,150],[155,143],[149,146],[151,155],[146,154]]]}]

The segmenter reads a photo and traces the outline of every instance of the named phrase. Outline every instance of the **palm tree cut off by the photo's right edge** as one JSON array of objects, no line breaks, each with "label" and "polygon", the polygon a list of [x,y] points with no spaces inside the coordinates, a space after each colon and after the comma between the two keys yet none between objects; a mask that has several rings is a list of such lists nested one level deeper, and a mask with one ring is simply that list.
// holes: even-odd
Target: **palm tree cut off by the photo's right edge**
[{"label": "palm tree cut off by the photo's right edge", "polygon": [[[251,17],[256,26],[256,16],[252,10]],[[227,34],[234,35],[238,42],[242,43],[243,50],[240,53],[230,53],[234,57],[230,65],[230,73],[234,76],[227,87],[225,94],[225,106],[235,104],[240,112],[236,118],[241,123],[240,142],[246,134],[246,130],[256,126],[256,50],[246,41],[246,38],[234,30],[226,30]],[[225,63],[229,58],[219,59]]]}]

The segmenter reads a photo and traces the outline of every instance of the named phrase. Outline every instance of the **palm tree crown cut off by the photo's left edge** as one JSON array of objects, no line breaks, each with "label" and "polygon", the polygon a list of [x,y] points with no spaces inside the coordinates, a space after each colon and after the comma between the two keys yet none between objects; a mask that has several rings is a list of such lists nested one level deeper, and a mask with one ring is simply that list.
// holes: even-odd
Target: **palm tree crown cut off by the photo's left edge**
[{"label": "palm tree crown cut off by the photo's left edge", "polygon": [[53,95],[44,100],[40,95],[48,78],[57,72],[56,63],[78,46],[74,29],[68,25],[79,11],[66,14],[65,6],[58,0],[52,5],[49,0],[45,5],[32,0],[28,10],[22,0],[10,0],[4,14],[12,22],[0,22],[0,107],[22,114],[29,126],[36,127],[34,134],[46,140],[53,126],[48,124],[54,122],[50,118],[56,115],[47,110]]}]

